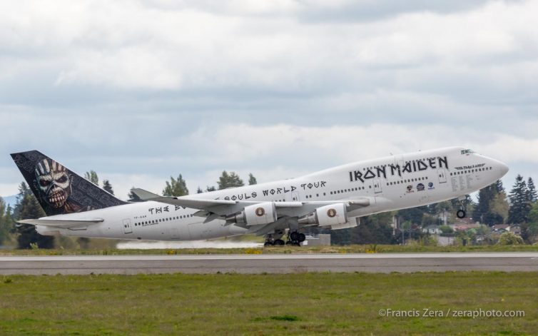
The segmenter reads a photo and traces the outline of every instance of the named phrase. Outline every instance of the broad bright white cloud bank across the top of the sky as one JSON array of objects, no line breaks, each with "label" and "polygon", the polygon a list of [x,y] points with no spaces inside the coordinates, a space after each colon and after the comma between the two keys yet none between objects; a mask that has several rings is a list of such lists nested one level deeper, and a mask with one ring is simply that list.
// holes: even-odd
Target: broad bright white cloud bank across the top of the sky
[{"label": "broad bright white cloud bank across the top of the sky", "polygon": [[[57,85],[121,89],[257,87],[295,92],[326,91],[330,86],[364,88],[365,81],[372,81],[387,88],[408,83],[422,91],[428,73],[465,78],[472,71],[489,85],[493,76],[499,83],[511,78],[511,67],[521,59],[536,62],[535,1],[497,1],[465,12],[426,9],[380,21],[316,24],[298,20],[302,11],[309,10],[305,7],[325,9],[315,2],[197,6],[186,1],[173,10],[161,6],[133,1],[20,1],[0,16],[4,31],[0,42],[7,51],[26,54],[25,63],[41,58],[42,68],[56,71]],[[272,15],[255,15],[260,13]],[[504,70],[499,73],[492,65]],[[406,68],[405,76],[379,72],[393,67]],[[19,68],[23,71],[24,66]],[[525,69],[529,74],[532,67]],[[536,78],[536,70],[529,78]],[[417,87],[417,81],[422,86]]]}]

